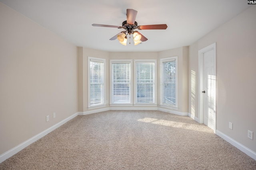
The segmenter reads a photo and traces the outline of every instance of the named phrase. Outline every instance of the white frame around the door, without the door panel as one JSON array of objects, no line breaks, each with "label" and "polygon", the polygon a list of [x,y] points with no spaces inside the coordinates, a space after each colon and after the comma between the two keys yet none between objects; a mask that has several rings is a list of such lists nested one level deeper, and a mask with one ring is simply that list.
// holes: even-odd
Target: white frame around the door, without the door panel
[{"label": "white frame around the door, without the door panel", "polygon": [[[199,91],[198,91],[198,121],[199,123],[204,123],[204,94],[202,91],[204,90],[204,53],[213,50],[213,57],[214,57],[214,74],[216,76],[217,81],[217,74],[216,74],[216,43],[208,45],[198,51],[198,73],[199,73]],[[217,83],[216,83],[216,96],[215,96],[215,103],[217,104]],[[214,133],[216,133],[216,105],[214,106],[215,115],[214,115]]]}]

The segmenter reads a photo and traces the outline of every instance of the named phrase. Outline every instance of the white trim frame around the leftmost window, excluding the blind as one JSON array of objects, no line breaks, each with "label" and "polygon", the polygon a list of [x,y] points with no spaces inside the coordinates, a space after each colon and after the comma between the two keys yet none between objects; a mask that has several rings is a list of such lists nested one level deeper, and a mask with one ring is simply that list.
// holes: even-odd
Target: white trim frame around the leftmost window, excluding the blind
[{"label": "white trim frame around the leftmost window, excluding the blind", "polygon": [[[90,61],[102,62],[104,63],[104,103],[96,106],[90,106]],[[99,107],[106,106],[106,59],[96,58],[96,57],[88,57],[88,109],[94,109]]]}]

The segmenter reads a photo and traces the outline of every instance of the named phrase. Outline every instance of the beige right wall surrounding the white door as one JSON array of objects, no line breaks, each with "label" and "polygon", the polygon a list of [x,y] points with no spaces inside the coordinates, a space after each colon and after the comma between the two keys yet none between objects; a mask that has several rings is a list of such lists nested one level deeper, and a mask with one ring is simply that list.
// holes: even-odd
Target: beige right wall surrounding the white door
[{"label": "beige right wall surrounding the white door", "polygon": [[[217,131],[256,152],[256,6],[190,45],[189,112],[198,117],[198,50],[216,42]],[[196,80],[194,80],[195,72]],[[193,86],[195,90],[193,90]],[[195,92],[194,92],[195,91]],[[193,113],[194,112],[194,113]],[[228,123],[233,123],[233,130]]]}]

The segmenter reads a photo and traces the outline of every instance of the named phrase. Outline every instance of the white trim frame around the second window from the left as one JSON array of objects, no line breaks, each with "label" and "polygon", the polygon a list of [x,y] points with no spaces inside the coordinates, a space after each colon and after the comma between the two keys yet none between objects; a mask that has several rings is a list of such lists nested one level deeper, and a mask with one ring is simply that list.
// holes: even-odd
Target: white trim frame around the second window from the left
[{"label": "white trim frame around the second window from the left", "polygon": [[[112,63],[130,63],[130,103],[120,103],[120,104],[117,104],[117,103],[112,103]],[[133,72],[132,72],[132,60],[126,60],[126,59],[115,59],[115,60],[110,60],[109,62],[110,64],[110,93],[109,93],[109,96],[110,96],[110,106],[132,106],[133,104]]]}]

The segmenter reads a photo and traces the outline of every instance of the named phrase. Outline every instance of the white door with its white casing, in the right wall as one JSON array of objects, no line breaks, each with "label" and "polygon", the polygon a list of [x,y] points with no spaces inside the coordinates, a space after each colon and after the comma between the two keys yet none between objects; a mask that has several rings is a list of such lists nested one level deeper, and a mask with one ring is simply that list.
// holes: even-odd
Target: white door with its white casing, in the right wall
[{"label": "white door with its white casing, in the right wall", "polygon": [[216,43],[198,51],[199,123],[216,132]]}]

